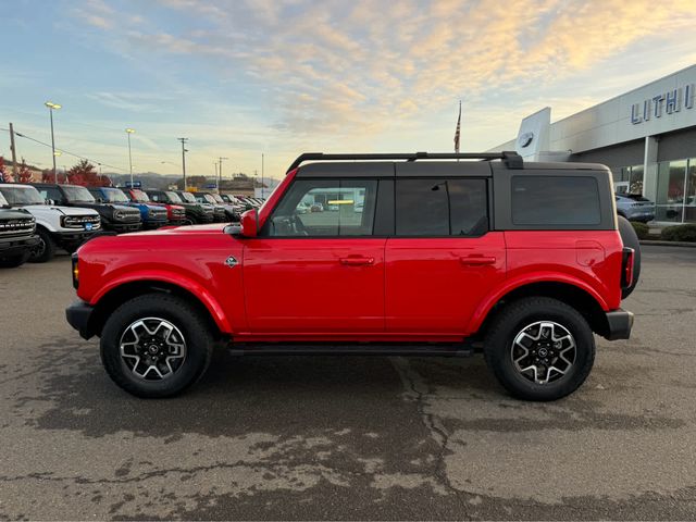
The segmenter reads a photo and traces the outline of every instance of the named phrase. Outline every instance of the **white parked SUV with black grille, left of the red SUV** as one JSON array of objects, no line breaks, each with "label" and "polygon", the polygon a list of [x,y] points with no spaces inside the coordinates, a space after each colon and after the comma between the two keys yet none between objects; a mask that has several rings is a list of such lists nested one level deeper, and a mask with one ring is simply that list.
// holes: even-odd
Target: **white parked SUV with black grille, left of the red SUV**
[{"label": "white parked SUV with black grille, left of the red SUV", "polygon": [[101,231],[101,219],[97,211],[47,204],[30,185],[3,183],[0,184],[0,194],[11,207],[26,210],[36,220],[38,244],[32,249],[29,261],[50,261],[57,248],[72,253]]}]

